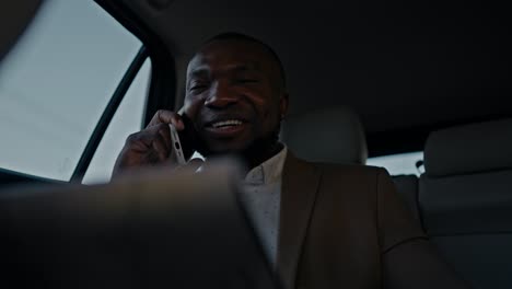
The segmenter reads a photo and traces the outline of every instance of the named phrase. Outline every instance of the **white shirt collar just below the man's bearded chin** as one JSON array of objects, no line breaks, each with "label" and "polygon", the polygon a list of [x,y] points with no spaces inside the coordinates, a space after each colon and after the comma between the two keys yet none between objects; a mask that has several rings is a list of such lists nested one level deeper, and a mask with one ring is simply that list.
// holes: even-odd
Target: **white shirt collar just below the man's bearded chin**
[{"label": "white shirt collar just below the man's bearded chin", "polygon": [[264,185],[279,181],[282,175],[282,166],[287,158],[287,146],[272,158],[253,167],[245,176],[245,183],[252,185]]}]

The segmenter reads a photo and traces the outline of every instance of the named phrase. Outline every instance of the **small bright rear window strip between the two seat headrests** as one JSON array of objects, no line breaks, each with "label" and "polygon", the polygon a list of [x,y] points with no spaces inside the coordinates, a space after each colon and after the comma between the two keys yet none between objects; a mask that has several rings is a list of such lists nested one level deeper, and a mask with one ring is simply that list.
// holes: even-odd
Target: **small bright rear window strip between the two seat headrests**
[{"label": "small bright rear window strip between the two seat headrests", "polygon": [[422,160],[423,152],[417,151],[377,158],[369,158],[366,164],[382,166],[386,169],[391,175],[415,174],[419,176],[420,173],[422,173],[422,166],[418,169],[416,167],[416,163]]}]

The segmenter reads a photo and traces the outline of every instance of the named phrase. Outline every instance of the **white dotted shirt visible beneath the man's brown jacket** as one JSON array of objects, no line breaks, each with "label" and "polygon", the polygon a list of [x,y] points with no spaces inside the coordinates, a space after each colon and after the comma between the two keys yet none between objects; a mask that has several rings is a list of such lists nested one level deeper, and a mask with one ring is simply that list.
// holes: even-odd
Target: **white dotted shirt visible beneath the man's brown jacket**
[{"label": "white dotted shirt visible beneath the man's brown jacket", "polygon": [[241,200],[272,265],[277,259],[282,167],[286,158],[287,147],[283,147],[279,153],[251,170],[245,176],[241,193]]}]

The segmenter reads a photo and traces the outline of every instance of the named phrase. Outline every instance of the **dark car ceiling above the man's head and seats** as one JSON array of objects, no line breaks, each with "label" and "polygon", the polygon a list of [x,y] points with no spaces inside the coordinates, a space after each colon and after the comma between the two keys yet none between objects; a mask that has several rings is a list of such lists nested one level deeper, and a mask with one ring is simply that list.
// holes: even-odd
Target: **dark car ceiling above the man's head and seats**
[{"label": "dark car ceiling above the man's head and seats", "polygon": [[351,106],[376,143],[391,136],[423,141],[431,129],[512,115],[503,105],[509,16],[496,3],[124,1],[175,57],[179,95],[191,54],[208,37],[235,31],[281,57],[290,114]]}]

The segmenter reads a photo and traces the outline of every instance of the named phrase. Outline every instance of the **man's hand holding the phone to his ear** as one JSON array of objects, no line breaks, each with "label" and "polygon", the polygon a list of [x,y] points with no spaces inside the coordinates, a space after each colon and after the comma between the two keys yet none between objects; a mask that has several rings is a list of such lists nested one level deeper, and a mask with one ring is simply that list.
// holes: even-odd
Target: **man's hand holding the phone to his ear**
[{"label": "man's hand holding the phone to his ear", "polygon": [[177,165],[175,155],[173,155],[170,124],[174,125],[178,131],[185,128],[178,114],[171,111],[159,111],[146,129],[130,135],[117,157],[113,175],[128,169],[164,162]]}]

